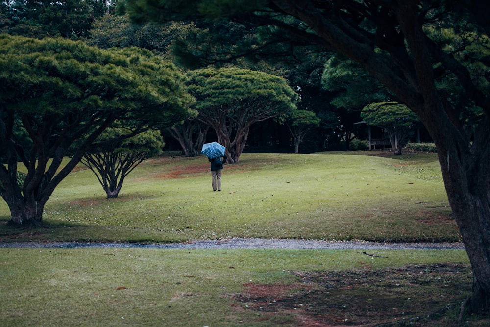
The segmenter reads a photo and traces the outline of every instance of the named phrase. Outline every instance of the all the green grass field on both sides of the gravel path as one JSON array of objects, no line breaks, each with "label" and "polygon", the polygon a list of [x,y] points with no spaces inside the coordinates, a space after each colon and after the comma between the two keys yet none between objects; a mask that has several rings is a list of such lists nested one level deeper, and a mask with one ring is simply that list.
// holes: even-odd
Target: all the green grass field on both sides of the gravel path
[{"label": "all the green grass field on both sides of the gravel path", "polygon": [[[93,173],[80,166],[46,205],[49,228],[7,225],[9,213],[0,203],[0,237],[2,242],[458,241],[450,213],[433,154],[243,154],[239,164],[225,166],[222,192],[211,189],[205,157],[167,155],[140,165],[117,199],[106,199]],[[323,300],[335,291],[328,285],[343,277],[347,292],[378,285],[367,289],[366,303],[393,302],[393,308],[375,314],[380,321],[413,322],[430,306],[443,313],[415,326],[456,326],[459,305],[470,293],[465,251],[375,253],[380,257],[352,250],[3,248],[0,326],[308,326],[300,322],[311,320],[308,312],[314,310],[323,322],[344,324],[342,318],[354,324],[354,311],[365,316],[367,309],[351,309],[350,302],[339,303],[341,313],[325,320],[330,309]],[[461,266],[449,266],[452,275],[433,272],[447,263]],[[410,265],[411,273],[396,268]],[[412,279],[414,270],[421,279]],[[333,272],[341,279],[332,275],[326,289],[302,277]],[[398,279],[381,277],[390,273]],[[359,277],[347,281],[352,274]],[[288,289],[260,305],[283,298],[310,302],[263,312],[260,300],[249,294],[252,287],[272,294]],[[314,291],[321,294],[319,302],[310,298]]]}]

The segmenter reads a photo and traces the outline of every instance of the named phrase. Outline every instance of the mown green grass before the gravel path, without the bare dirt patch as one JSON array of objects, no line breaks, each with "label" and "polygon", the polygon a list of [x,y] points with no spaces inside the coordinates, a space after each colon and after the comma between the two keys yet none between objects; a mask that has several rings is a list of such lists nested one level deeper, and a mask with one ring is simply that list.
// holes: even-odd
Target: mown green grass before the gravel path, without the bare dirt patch
[{"label": "mown green grass before the gravel path, without the bare dirt patch", "polygon": [[[375,253],[388,258],[351,250],[0,249],[0,326],[296,326],[293,313],[257,313],[233,298],[251,283],[301,284],[297,271],[467,264],[462,250]],[[400,292],[411,297],[415,288]]]}]

